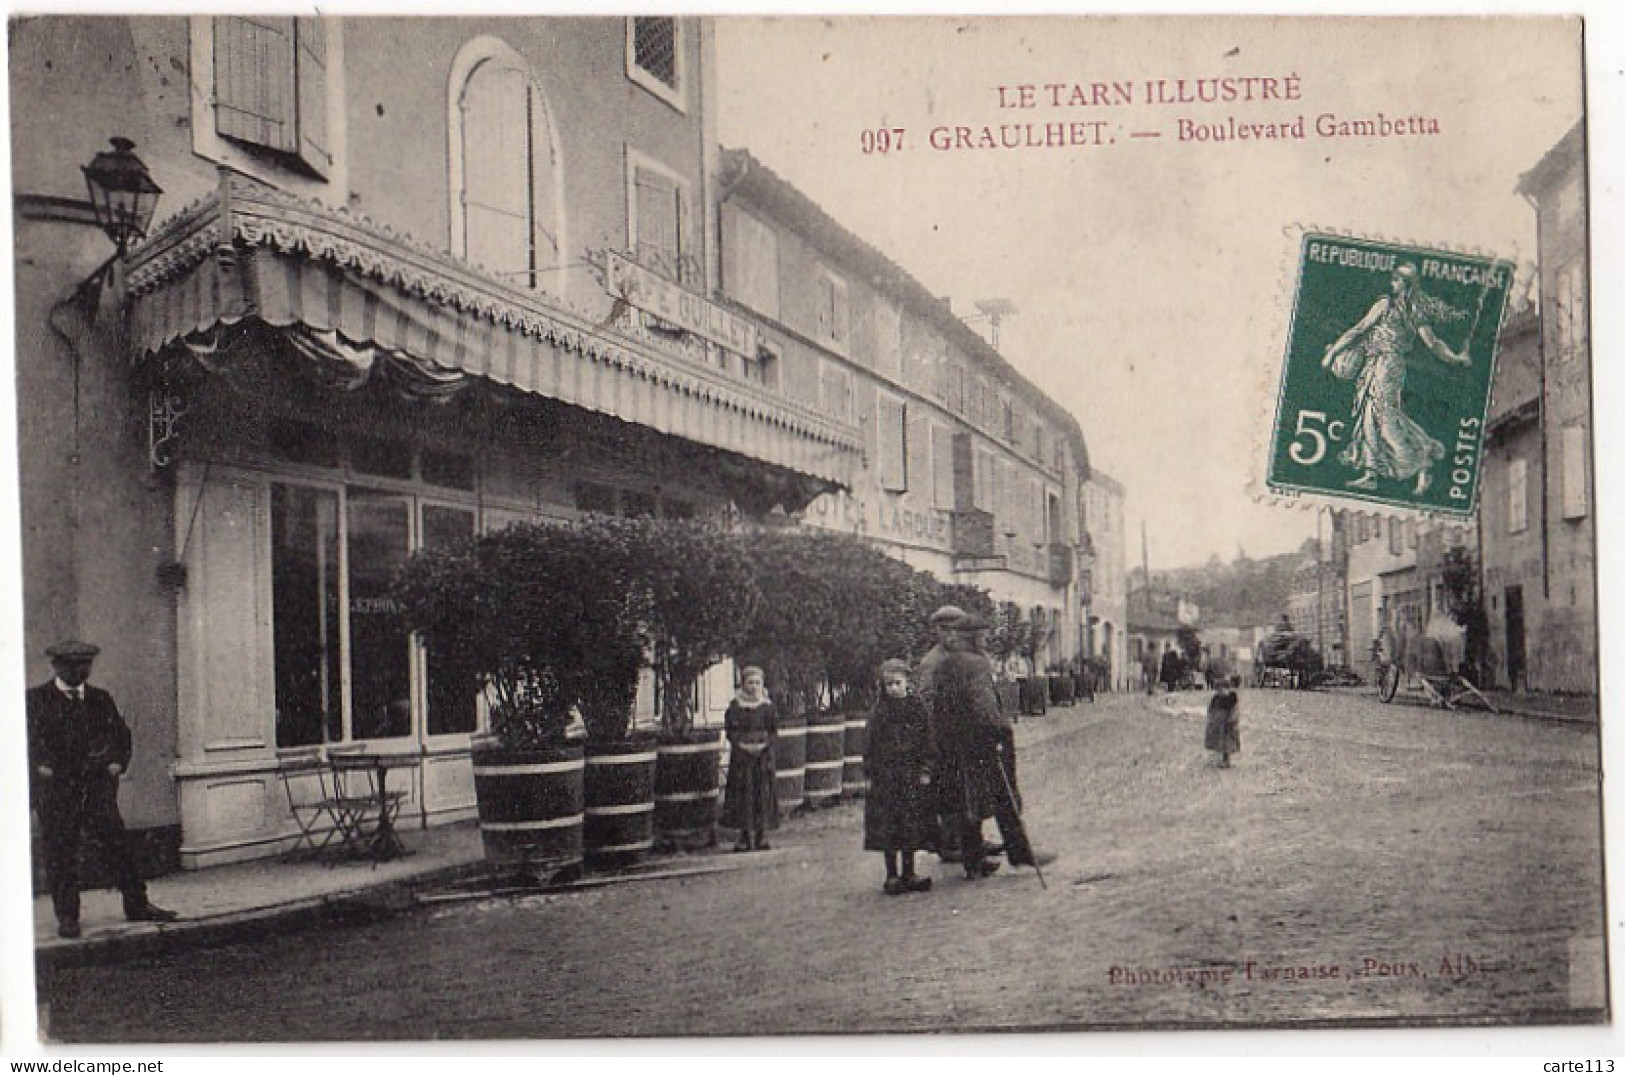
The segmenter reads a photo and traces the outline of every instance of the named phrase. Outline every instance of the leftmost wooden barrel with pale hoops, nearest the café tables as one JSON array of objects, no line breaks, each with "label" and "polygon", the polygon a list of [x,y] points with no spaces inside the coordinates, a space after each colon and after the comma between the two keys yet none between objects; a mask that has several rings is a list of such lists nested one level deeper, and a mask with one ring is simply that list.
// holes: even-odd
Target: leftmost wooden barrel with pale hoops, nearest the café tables
[{"label": "leftmost wooden barrel with pale hoops, nearest the caf\u00e9 tables", "polygon": [[580,870],[582,747],[476,742],[471,753],[486,862],[538,877]]}]

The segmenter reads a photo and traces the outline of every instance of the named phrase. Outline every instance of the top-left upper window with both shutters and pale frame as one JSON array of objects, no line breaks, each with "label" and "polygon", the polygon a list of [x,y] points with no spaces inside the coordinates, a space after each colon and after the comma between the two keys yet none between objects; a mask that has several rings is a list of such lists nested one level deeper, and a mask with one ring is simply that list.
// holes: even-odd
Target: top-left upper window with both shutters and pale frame
[{"label": "top-left upper window with both shutters and pale frame", "polygon": [[[195,19],[193,78],[213,91],[193,96],[198,153],[250,172],[271,154],[296,172],[336,182],[338,54],[338,23],[327,18]],[[242,149],[249,153],[237,156]]]}]

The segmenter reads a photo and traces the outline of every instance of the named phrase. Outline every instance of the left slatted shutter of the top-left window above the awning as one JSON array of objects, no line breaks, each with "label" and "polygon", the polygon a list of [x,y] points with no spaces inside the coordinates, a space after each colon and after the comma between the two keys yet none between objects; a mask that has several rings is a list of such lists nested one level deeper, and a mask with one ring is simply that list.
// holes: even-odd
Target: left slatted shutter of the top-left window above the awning
[{"label": "left slatted shutter of the top-left window above the awning", "polygon": [[266,149],[296,153],[294,19],[214,18],[214,130]]}]

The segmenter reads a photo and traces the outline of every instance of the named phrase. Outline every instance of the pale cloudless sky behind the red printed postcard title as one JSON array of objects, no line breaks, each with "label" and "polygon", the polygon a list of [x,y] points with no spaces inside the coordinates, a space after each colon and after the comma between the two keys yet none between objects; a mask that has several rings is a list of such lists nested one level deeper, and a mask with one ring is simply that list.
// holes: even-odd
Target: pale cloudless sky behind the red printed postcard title
[{"label": "pale cloudless sky behind the red printed postcard title", "polygon": [[[1532,263],[1518,179],[1581,117],[1580,26],[1557,18],[725,18],[717,70],[723,145],[962,317],[1014,304],[1001,351],[1077,416],[1092,464],[1128,490],[1131,560],[1144,521],[1154,570],[1315,534],[1313,510],[1256,495],[1294,229]],[[1211,78],[1269,78],[1277,96],[1237,81],[1238,99],[1176,102],[1176,80],[1194,94]],[[1035,107],[1011,107],[1022,84]],[[1302,140],[1181,128],[1300,115]],[[1320,136],[1323,115],[1438,133]],[[938,127],[975,141],[1053,122],[1082,123],[1086,145],[931,145]],[[902,149],[864,153],[879,128],[902,128]]]}]

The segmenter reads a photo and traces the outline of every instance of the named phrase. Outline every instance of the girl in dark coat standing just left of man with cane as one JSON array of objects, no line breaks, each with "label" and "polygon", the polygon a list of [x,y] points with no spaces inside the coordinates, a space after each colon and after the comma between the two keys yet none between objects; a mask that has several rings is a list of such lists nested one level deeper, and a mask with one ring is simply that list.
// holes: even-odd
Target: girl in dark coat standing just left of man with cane
[{"label": "girl in dark coat standing just left of man with cane", "polygon": [[930,892],[931,879],[915,874],[915,853],[936,849],[931,721],[925,703],[908,693],[905,661],[881,666],[881,698],[869,713],[866,742],[863,849],[886,856],[886,895]]}]

